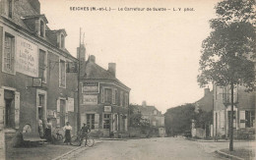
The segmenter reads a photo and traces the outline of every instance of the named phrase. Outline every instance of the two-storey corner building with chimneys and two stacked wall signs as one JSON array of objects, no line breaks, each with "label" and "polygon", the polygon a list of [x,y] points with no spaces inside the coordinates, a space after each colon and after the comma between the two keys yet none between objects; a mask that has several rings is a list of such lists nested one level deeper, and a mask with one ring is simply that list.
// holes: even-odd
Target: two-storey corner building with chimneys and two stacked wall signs
[{"label": "two-storey corner building with chimneys and two stacked wall signs", "polygon": [[81,48],[80,113],[81,124],[86,123],[95,136],[118,136],[128,132],[130,88],[117,80],[116,65],[104,70],[91,55],[85,61]]}]

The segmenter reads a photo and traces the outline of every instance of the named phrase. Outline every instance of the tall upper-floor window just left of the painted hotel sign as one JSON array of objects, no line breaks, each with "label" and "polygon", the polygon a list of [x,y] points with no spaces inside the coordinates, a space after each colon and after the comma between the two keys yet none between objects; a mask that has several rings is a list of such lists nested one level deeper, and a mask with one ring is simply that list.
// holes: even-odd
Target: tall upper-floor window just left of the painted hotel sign
[{"label": "tall upper-floor window just left of the painted hotel sign", "polygon": [[4,47],[4,72],[14,74],[14,55],[15,55],[15,38],[13,35],[5,33]]}]

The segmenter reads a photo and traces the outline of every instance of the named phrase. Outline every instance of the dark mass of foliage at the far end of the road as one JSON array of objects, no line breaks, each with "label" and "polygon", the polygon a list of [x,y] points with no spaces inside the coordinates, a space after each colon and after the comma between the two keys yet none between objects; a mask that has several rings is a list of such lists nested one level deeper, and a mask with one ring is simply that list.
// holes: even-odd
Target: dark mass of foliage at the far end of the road
[{"label": "dark mass of foliage at the far end of the road", "polygon": [[195,119],[194,104],[184,104],[169,108],[164,114],[165,131],[168,135],[177,135],[191,130],[191,121]]}]

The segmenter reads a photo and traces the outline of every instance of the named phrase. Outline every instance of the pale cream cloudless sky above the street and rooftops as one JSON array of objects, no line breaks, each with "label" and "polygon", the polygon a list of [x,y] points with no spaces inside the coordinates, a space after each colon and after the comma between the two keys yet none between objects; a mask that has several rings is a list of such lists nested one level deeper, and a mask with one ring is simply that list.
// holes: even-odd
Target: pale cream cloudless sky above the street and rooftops
[{"label": "pale cream cloudless sky above the street and rooftops", "polygon": [[[66,48],[76,57],[80,27],[88,55],[131,88],[130,103],[162,113],[204,95],[197,82],[202,41],[210,34],[217,0],[39,0],[50,29],[65,28]],[[111,8],[74,11],[71,7]],[[144,11],[120,11],[145,8]],[[166,11],[147,11],[165,8]],[[184,11],[189,8],[190,11]],[[193,8],[193,9],[191,9]],[[179,11],[180,9],[180,11]],[[192,11],[191,11],[192,10]],[[211,84],[209,86],[211,88]]]}]

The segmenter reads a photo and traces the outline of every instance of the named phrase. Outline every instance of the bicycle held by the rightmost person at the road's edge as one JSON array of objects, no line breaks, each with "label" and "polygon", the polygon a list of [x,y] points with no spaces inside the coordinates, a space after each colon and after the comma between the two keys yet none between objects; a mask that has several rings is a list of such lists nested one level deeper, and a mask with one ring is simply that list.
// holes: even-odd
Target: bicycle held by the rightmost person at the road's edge
[{"label": "bicycle held by the rightmost person at the road's edge", "polygon": [[86,138],[85,146],[92,147],[95,144],[95,139],[89,135],[89,133],[86,133],[85,136],[81,136],[81,133],[79,135],[74,135],[71,137],[71,145],[74,146],[80,146],[84,139]]}]

